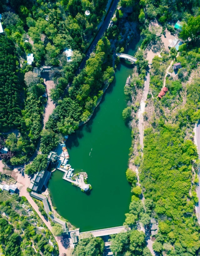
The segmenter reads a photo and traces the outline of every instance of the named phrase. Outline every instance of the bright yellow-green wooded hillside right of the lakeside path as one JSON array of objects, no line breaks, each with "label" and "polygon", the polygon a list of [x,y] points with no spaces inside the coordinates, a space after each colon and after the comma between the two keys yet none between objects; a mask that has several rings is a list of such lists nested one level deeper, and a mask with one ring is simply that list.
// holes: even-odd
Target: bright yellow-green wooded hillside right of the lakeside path
[{"label": "bright yellow-green wooded hillside right of the lakeside path", "polygon": [[[199,115],[200,81],[187,83],[195,60],[199,58],[196,42],[180,47],[175,61],[183,63],[178,76],[167,78],[168,93],[159,101],[162,88],[162,63],[166,59],[155,57],[152,65],[151,88],[155,98],[147,102],[155,109],[147,113],[143,162],[140,167],[144,196],[153,200],[152,217],[158,219],[158,234],[153,248],[170,255],[195,255],[200,248],[199,225],[194,206],[198,203],[198,154],[193,143],[194,124]],[[175,53],[176,54],[176,53]],[[158,65],[159,63],[159,65]],[[184,100],[183,100],[184,99]]]}]

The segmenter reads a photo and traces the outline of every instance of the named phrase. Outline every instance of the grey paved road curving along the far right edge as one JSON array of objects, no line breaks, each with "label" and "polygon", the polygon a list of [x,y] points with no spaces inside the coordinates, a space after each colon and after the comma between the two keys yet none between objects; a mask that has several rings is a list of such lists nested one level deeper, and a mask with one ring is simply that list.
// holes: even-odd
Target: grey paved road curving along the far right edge
[{"label": "grey paved road curving along the far right edge", "polygon": [[[200,122],[198,122],[198,124],[195,125],[194,132],[195,132],[194,142],[197,145],[197,150],[200,158]],[[197,197],[199,199],[199,203],[198,203],[198,206],[195,207],[195,209],[196,209],[196,214],[198,218],[198,223],[200,224],[200,172],[198,173],[198,177],[199,177],[199,184],[197,187]]]}]

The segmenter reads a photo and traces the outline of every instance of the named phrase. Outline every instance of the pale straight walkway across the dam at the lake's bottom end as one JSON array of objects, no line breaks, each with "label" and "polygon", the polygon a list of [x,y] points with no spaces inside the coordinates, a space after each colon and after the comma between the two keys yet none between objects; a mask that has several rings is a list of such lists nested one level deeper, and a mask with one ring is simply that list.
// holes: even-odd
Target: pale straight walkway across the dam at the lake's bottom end
[{"label": "pale straight walkway across the dam at the lake's bottom end", "polygon": [[130,229],[129,226],[120,226],[120,227],[114,227],[114,228],[104,228],[104,229],[98,229],[93,231],[81,232],[80,235],[91,233],[93,234],[94,237],[107,236],[112,234],[118,234],[121,232],[127,232],[129,229]]}]

